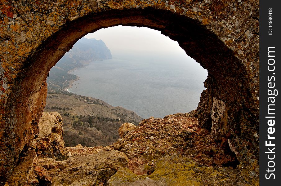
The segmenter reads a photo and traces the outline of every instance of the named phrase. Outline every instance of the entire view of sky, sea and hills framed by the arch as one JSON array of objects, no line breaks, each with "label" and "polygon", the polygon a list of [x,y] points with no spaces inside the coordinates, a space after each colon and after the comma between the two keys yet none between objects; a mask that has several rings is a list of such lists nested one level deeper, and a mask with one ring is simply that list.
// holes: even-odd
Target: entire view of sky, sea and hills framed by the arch
[{"label": "entire view of sky, sea and hills framed by the arch", "polygon": [[[140,117],[163,118],[197,108],[207,70],[177,42],[146,27],[110,27],[86,37],[74,44],[47,78],[45,111],[62,116],[65,146],[112,145],[125,122],[137,125]],[[92,98],[110,108],[99,100],[85,102]]]}]

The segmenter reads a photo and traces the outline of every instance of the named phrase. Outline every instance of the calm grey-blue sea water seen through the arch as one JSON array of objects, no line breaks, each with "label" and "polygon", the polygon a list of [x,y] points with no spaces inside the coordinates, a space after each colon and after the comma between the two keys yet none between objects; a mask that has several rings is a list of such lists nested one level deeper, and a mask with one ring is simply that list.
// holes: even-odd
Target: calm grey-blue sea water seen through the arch
[{"label": "calm grey-blue sea water seen through the arch", "polygon": [[187,55],[119,55],[72,72],[68,91],[136,112],[143,118],[186,113],[198,106],[207,70]]}]

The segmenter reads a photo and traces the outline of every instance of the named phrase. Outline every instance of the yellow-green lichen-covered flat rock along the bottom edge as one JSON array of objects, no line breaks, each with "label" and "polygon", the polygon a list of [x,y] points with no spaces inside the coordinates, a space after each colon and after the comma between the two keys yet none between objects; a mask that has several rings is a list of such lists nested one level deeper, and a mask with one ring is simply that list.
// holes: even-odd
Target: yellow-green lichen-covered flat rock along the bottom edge
[{"label": "yellow-green lichen-covered flat rock along the bottom edge", "polygon": [[136,175],[128,168],[121,168],[107,183],[110,186],[249,185],[233,168],[198,166],[179,154],[160,158],[151,175]]}]

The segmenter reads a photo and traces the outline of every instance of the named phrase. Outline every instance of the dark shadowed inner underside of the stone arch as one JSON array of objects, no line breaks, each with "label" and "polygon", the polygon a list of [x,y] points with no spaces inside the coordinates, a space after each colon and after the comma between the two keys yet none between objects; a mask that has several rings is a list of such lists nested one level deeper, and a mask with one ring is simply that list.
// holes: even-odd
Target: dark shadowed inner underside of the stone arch
[{"label": "dark shadowed inner underside of the stone arch", "polygon": [[[258,131],[257,109],[251,104],[255,101],[249,84],[248,71],[234,52],[218,36],[196,20],[171,11],[154,8],[109,10],[89,14],[73,21],[68,21],[56,32],[44,39],[42,44],[31,48],[31,54],[25,60],[16,82],[9,88],[7,98],[3,152],[6,174],[10,175],[18,155],[30,146],[34,135],[38,133],[37,122],[44,108],[46,99],[46,78],[51,67],[69,51],[79,38],[90,32],[110,26],[145,26],[160,30],[161,33],[178,41],[188,55],[207,69],[209,74],[205,82],[207,88],[201,95],[197,114],[201,127],[213,126],[218,139],[233,140],[232,146],[240,150],[250,149],[238,154],[239,161],[247,158],[258,159],[258,141],[256,134],[247,137],[249,131]],[[212,114],[217,113],[216,114]],[[213,119],[212,118],[219,118]],[[217,124],[217,125],[216,125]],[[236,141],[235,139],[243,139]],[[249,141],[249,144],[243,142]],[[230,146],[231,146],[230,145]],[[246,150],[246,152],[248,152]]]}]

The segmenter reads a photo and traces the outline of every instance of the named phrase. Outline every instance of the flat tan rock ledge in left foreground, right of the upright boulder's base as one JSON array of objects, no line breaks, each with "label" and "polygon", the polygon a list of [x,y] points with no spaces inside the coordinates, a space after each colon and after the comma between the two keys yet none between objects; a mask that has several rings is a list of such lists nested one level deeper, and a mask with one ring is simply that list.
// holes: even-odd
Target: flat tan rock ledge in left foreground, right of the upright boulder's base
[{"label": "flat tan rock ledge in left foreground, right of the upright boulder's base", "polygon": [[52,177],[51,185],[103,185],[118,168],[128,165],[128,158],[124,153],[103,148],[97,153],[75,155],[65,161],[39,158],[39,162]]}]

